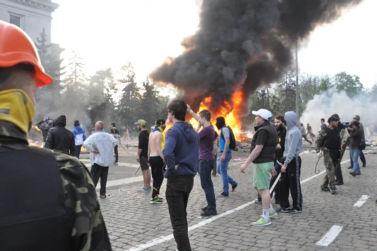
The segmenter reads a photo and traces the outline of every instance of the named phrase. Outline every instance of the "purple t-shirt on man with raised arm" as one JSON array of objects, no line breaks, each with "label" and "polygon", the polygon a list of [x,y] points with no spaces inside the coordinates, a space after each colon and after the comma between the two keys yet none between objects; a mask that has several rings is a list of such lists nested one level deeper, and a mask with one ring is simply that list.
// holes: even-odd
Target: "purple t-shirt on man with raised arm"
[{"label": "purple t-shirt on man with raised arm", "polygon": [[215,128],[213,125],[204,127],[199,133],[199,159],[213,160],[213,141],[215,141]]}]

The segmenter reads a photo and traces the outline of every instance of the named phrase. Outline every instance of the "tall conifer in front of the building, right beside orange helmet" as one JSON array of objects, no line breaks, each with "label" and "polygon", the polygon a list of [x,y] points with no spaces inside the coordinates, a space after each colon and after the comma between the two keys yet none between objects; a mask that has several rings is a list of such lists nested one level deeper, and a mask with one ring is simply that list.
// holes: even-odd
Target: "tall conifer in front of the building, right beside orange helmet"
[{"label": "tall conifer in front of the building, right beside orange helmet", "polygon": [[[58,96],[61,91],[60,76],[65,74],[65,72],[62,72],[65,67],[61,67],[63,59],[60,59],[59,52],[51,50],[51,44],[46,44],[46,36],[46,30],[43,28],[40,33],[40,38],[37,38],[35,46],[37,47],[44,71],[54,79],[54,82],[51,85],[46,85],[38,89],[36,94],[37,101],[43,98],[43,96]],[[54,107],[52,107],[52,109],[54,109]]]}]

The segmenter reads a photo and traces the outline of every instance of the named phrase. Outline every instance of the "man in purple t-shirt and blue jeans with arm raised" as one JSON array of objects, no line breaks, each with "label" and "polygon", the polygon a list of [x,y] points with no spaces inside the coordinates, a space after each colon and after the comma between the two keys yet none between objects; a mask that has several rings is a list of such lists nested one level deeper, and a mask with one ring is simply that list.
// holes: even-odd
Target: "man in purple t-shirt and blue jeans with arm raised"
[{"label": "man in purple t-shirt and blue jeans with arm raised", "polygon": [[[200,183],[207,199],[207,206],[202,208],[201,216],[216,215],[216,199],[215,190],[213,190],[213,183],[211,179],[211,171],[213,169],[213,142],[215,141],[215,128],[211,125],[211,113],[208,110],[199,112],[199,116],[191,110],[187,105],[187,111],[198,121],[196,131],[199,134],[199,170]],[[202,128],[203,127],[203,128]],[[199,129],[202,130],[199,132]]]}]

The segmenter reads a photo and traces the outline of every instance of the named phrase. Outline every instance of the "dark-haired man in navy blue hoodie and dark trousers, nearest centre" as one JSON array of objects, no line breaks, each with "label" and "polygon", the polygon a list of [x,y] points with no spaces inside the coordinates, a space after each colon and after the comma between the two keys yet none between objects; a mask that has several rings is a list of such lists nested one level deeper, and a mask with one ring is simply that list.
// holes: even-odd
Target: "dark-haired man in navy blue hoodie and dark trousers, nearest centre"
[{"label": "dark-haired man in navy blue hoodie and dark trousers, nearest centre", "polygon": [[167,117],[173,126],[165,134],[162,151],[166,163],[166,201],[169,206],[173,235],[179,251],[191,251],[187,224],[187,202],[199,166],[199,135],[185,122],[187,105],[173,99]]}]

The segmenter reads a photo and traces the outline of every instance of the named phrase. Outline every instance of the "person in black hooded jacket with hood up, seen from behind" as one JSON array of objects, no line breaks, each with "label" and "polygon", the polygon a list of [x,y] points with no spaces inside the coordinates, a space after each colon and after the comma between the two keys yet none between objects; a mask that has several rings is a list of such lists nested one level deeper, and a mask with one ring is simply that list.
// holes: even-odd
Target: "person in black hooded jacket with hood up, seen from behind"
[{"label": "person in black hooded jacket with hood up, seen from behind", "polygon": [[65,115],[59,115],[54,119],[54,127],[48,131],[45,147],[75,156],[75,137],[70,130],[65,128],[66,124]]}]

